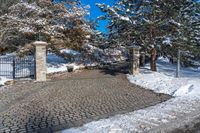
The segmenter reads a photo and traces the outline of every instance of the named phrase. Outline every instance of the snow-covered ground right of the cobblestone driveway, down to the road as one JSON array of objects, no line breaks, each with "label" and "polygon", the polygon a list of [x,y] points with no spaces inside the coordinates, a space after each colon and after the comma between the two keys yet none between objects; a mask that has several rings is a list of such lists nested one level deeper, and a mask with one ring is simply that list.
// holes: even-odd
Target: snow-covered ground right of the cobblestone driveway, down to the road
[{"label": "snow-covered ground right of the cobblestone driveway, down to the road", "polygon": [[91,122],[79,128],[71,128],[62,133],[129,133],[164,132],[184,127],[200,113],[200,71],[182,69],[181,78],[175,78],[176,66],[167,59],[158,60],[158,72],[151,72],[149,65],[141,69],[137,76],[127,75],[131,83],[158,93],[166,93],[174,98],[145,109],[108,119]]}]

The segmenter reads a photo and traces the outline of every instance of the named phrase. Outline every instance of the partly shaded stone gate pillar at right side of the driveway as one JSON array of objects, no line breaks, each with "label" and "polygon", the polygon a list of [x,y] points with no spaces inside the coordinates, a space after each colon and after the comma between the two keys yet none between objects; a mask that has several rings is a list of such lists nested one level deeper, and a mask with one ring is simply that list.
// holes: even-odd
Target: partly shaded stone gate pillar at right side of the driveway
[{"label": "partly shaded stone gate pillar at right side of the driveway", "polygon": [[129,47],[130,55],[130,72],[133,75],[137,75],[140,72],[140,48]]}]

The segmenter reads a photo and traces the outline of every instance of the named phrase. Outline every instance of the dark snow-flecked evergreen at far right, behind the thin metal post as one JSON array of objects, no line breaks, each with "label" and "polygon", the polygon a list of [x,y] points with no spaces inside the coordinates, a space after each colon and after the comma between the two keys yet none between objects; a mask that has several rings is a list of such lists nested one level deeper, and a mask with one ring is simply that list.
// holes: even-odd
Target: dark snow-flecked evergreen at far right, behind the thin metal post
[{"label": "dark snow-flecked evergreen at far right, behind the thin metal post", "polygon": [[171,41],[168,54],[175,57],[178,49],[182,52],[182,61],[188,61],[198,57],[200,52],[200,8],[197,1],[175,1],[174,7],[178,9],[175,17],[169,21],[172,32],[168,36]]}]

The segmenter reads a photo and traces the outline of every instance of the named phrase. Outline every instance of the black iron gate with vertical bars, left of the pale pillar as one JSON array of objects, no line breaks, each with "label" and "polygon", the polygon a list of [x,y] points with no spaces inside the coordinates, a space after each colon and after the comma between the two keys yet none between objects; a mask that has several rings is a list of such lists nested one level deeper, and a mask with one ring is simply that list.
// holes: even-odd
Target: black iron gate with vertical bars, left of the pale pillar
[{"label": "black iron gate with vertical bars, left of the pale pillar", "polygon": [[35,58],[34,56],[0,57],[0,76],[7,78],[34,78]]}]

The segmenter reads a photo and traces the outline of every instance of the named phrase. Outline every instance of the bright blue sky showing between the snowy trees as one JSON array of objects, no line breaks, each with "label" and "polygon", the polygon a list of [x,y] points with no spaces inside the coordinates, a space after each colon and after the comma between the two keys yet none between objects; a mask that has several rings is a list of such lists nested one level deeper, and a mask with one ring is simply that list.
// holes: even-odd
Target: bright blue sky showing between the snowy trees
[{"label": "bright blue sky showing between the snowy trees", "polygon": [[[90,5],[90,18],[96,19],[98,16],[102,15],[102,12],[95,5],[95,3],[105,3],[107,5],[112,5],[115,0],[81,0],[82,4]],[[100,21],[99,30],[106,32],[107,21]]]}]

